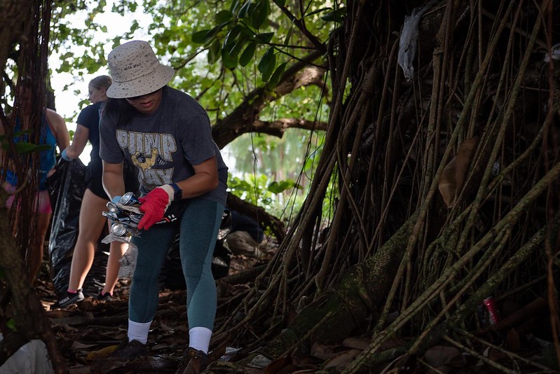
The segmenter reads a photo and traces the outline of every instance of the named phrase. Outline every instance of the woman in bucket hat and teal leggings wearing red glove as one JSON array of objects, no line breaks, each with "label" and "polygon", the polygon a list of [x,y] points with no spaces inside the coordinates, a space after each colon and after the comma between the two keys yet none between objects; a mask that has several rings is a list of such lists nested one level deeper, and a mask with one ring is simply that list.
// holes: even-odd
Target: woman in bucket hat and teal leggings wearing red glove
[{"label": "woman in bucket hat and teal leggings wearing red glove", "polygon": [[[195,99],[168,87],[174,71],[160,64],[149,43],[124,43],[107,60],[113,84],[100,123],[103,184],[111,200],[118,201],[127,192],[123,160],[132,162],[139,172],[144,212],[138,223],[141,233],[132,237],[138,256],[128,339],[114,357],[129,360],[146,353],[158,306],[158,273],[178,232],[189,322],[184,373],[200,373],[207,365],[216,314],[210,266],[226,205],[227,167],[212,140],[207,113]],[[161,223],[172,209],[177,220]]]}]

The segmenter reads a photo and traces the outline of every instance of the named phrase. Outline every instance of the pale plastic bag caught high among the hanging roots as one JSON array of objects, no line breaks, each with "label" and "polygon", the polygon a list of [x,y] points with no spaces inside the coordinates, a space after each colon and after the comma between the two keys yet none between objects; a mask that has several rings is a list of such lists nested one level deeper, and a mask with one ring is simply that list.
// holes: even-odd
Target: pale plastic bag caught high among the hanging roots
[{"label": "pale plastic bag caught high among the hanging roots", "polygon": [[425,11],[428,11],[437,1],[430,1],[425,6],[418,6],[412,10],[411,15],[404,17],[404,25],[399,40],[399,57],[397,62],[402,67],[404,78],[411,81],[414,76],[414,57],[416,56],[416,44],[418,41],[418,24]]}]

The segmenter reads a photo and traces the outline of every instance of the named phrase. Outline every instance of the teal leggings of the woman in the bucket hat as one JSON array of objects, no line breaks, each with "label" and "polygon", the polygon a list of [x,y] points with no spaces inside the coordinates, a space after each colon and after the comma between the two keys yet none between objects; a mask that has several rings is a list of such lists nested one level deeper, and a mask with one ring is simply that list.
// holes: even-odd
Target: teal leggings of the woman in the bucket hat
[{"label": "teal leggings of the woman in the bucket hat", "polygon": [[139,237],[132,238],[132,243],[138,247],[138,258],[128,300],[128,317],[131,321],[146,323],[156,315],[158,275],[179,228],[189,328],[205,327],[212,330],[217,295],[211,265],[222,212],[224,205],[219,202],[192,199],[178,225],[154,225]]}]

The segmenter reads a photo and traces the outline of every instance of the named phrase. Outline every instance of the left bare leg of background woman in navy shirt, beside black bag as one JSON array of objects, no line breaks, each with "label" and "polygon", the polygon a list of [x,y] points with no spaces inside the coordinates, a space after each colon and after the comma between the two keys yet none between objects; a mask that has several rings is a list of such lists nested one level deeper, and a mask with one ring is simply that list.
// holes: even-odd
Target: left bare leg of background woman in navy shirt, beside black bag
[{"label": "left bare leg of background woman in navy shirt, beside black bag", "polygon": [[90,271],[95,256],[95,245],[99,239],[107,219],[101,212],[107,210],[107,200],[95,195],[89,189],[83,193],[80,208],[78,240],[74,247],[68,289],[81,289],[86,275]]}]

